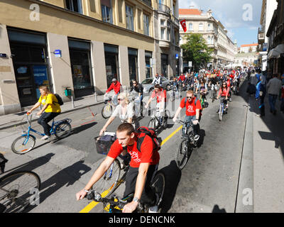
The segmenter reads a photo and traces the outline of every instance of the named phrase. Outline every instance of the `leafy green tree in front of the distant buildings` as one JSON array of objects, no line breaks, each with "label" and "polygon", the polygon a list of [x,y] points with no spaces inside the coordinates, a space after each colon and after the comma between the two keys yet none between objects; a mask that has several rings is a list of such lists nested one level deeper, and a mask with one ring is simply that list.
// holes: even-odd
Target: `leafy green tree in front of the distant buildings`
[{"label": "leafy green tree in front of the distant buildings", "polygon": [[192,62],[194,67],[200,68],[212,60],[213,48],[208,48],[202,34],[187,35],[187,43],[182,44],[183,60]]}]

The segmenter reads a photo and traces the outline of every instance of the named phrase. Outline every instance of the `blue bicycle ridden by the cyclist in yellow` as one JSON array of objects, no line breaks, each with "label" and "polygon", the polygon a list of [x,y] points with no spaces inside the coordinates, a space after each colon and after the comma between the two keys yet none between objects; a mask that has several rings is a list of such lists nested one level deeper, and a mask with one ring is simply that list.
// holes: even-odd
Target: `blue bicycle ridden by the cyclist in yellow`
[{"label": "blue bicycle ridden by the cyclist in yellow", "polygon": [[[29,115],[31,116],[30,118],[28,118]],[[11,145],[13,153],[16,153],[18,155],[23,155],[25,153],[28,153],[34,148],[36,138],[34,135],[31,134],[31,132],[37,133],[38,135],[41,136],[45,135],[44,133],[40,133],[35,129],[31,128],[32,114],[26,114],[26,118],[27,118],[26,122],[28,123],[28,131],[23,131],[22,135],[16,138],[15,140],[13,140],[13,143]],[[71,121],[72,120],[70,118],[65,118],[60,121],[54,121],[53,119],[53,123],[50,129],[50,134],[55,135],[57,138],[60,139],[67,137],[68,135],[70,135],[72,130],[70,125]]]}]

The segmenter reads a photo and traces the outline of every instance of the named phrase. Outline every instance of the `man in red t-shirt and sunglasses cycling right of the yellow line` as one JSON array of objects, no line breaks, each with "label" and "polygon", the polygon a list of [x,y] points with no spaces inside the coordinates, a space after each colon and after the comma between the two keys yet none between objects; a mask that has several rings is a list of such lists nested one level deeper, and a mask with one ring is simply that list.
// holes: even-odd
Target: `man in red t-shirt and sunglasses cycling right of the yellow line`
[{"label": "man in red t-shirt and sunglasses cycling right of the yellow line", "polygon": [[173,122],[177,121],[180,111],[183,108],[186,108],[185,122],[192,121],[194,125],[193,130],[195,131],[195,140],[198,140],[200,138],[199,122],[201,119],[200,110],[202,109],[202,107],[200,104],[200,100],[194,96],[192,90],[189,90],[186,95],[187,95],[186,98],[183,98],[182,101],[180,101],[180,106],[178,107],[178,110],[175,112],[175,116],[173,117]]}]

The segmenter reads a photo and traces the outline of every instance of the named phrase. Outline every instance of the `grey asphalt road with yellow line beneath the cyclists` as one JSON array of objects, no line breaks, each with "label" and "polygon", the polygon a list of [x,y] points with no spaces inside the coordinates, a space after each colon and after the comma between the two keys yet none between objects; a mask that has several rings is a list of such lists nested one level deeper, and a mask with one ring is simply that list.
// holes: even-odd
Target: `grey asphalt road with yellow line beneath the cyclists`
[{"label": "grey asphalt road with yellow line beneath the cyclists", "polygon": [[[185,96],[185,92],[182,96]],[[159,164],[159,169],[163,169],[166,174],[163,212],[235,211],[246,101],[241,96],[233,96],[233,101],[229,103],[229,113],[219,122],[216,114],[219,101],[212,104],[209,95],[207,99],[209,107],[203,111],[200,123],[200,144],[182,171],[175,165],[175,153],[181,141],[181,133],[178,131],[173,134],[180,125],[174,124],[170,119],[168,129],[158,135],[161,141],[165,142],[167,139],[160,150]],[[171,116],[180,99],[175,103],[168,104]],[[94,137],[107,121],[102,118],[101,109],[102,104],[61,114],[58,120],[72,119],[72,135],[54,143],[36,140],[37,147],[25,155],[11,152],[11,143],[21,135],[21,126],[0,131],[0,152],[9,160],[6,171],[32,170],[40,176],[40,204],[30,206],[27,212],[77,213],[89,204],[87,199],[76,201],[75,194],[87,184],[104,158],[104,155],[94,151]],[[91,111],[96,115],[92,116]],[[183,111],[181,118],[184,114]],[[147,126],[149,119],[141,118],[141,126]],[[119,123],[116,119],[108,131],[115,131]],[[41,131],[37,123],[33,125]],[[124,184],[117,189],[116,194],[122,195],[123,190]],[[102,212],[102,206],[98,204],[88,211]]]}]

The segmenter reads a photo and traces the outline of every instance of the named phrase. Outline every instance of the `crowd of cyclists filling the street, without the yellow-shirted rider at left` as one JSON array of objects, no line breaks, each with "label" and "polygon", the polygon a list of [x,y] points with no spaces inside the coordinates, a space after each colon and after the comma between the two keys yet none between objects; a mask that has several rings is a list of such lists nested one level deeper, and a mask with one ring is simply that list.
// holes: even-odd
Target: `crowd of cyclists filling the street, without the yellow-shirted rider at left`
[{"label": "crowd of cyclists filling the street, without the yellow-shirted rider at left", "polygon": [[[178,89],[185,89],[186,96],[181,99],[180,106],[175,112],[173,121],[177,121],[180,111],[185,108],[185,122],[192,121],[195,131],[195,140],[200,138],[200,119],[202,116],[202,105],[200,99],[197,99],[197,93],[200,93],[206,101],[206,95],[209,89],[215,90],[217,92],[217,99],[224,97],[225,100],[231,101],[231,89],[233,89],[233,84],[236,85],[236,89],[239,90],[239,83],[241,81],[241,76],[244,72],[236,70],[211,70],[205,71],[200,70],[197,73],[187,73],[181,74],[180,77],[173,78],[173,89],[178,91]],[[143,106],[143,86],[139,84],[136,80],[132,81],[131,92],[135,91],[138,94],[136,100],[141,101],[141,109],[145,107],[146,109],[151,104],[153,99],[157,100],[157,109],[160,113],[165,114],[166,106],[166,90],[161,86],[160,75],[155,74],[153,79],[154,89],[150,98],[148,99],[145,106]],[[113,79],[111,87],[107,90],[107,93],[114,90],[113,98],[117,98],[118,105],[113,111],[113,114],[104,124],[103,128],[99,132],[99,135],[103,135],[107,131],[107,126],[114,121],[117,116],[121,120],[121,125],[116,131],[116,140],[111,145],[107,157],[104,159],[99,168],[94,172],[89,182],[86,184],[84,189],[76,194],[77,200],[83,199],[92,189],[93,184],[95,184],[103,175],[104,172],[108,170],[114,160],[119,157],[119,155],[130,155],[130,170],[126,175],[126,189],[124,195],[133,193],[133,200],[124,206],[123,212],[133,212],[139,201],[143,203],[151,204],[151,209],[149,211],[157,211],[156,201],[158,201],[158,195],[151,189],[151,179],[155,175],[155,171],[158,169],[158,163],[160,156],[158,153],[158,146],[153,142],[151,135],[147,133],[142,133],[141,142],[141,132],[138,130],[138,119],[134,111],[135,105],[133,101],[129,98],[129,93],[121,92],[121,84]],[[226,103],[226,108],[228,104]],[[142,114],[142,110],[141,110]],[[161,116],[163,116],[163,114]],[[139,145],[138,145],[139,143]]]}]

